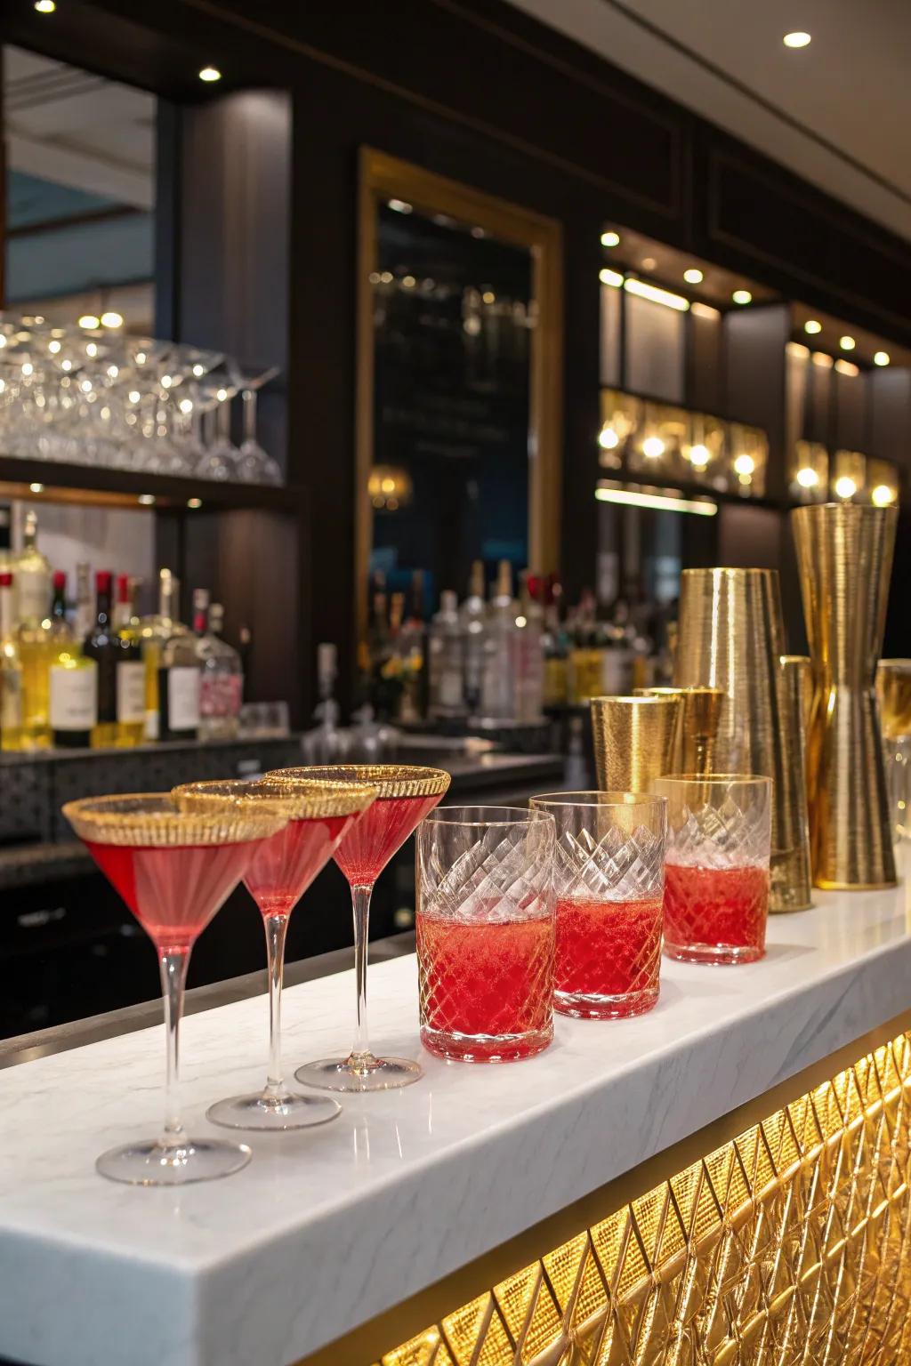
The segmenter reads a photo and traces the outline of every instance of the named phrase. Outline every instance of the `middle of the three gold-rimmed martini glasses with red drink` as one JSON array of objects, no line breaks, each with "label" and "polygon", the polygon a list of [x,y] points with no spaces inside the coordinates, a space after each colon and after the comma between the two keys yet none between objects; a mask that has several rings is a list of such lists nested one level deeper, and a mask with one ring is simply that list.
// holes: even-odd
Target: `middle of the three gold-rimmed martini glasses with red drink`
[{"label": "middle of the three gold-rimmed martini glasses with red drink", "polygon": [[269,975],[269,1070],[266,1085],[251,1096],[231,1096],[206,1113],[225,1128],[280,1131],[310,1128],[337,1119],[341,1106],[329,1096],[300,1096],[288,1090],[281,1067],[281,984],[288,921],[310,882],[332,858],[341,840],[370,806],[377,788],[366,783],[320,783],[306,779],[283,783],[186,783],[172,796],[182,810],[205,810],[214,800],[279,802],[288,824],[262,840],[243,876],[257,903],[266,933]]}]

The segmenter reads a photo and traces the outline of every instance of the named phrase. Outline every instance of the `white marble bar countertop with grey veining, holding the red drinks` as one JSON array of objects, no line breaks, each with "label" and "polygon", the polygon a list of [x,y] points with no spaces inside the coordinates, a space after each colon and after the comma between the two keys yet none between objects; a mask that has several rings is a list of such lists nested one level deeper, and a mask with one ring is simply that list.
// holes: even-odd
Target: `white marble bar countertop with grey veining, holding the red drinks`
[{"label": "white marble bar countertop with grey veining, holding the red drinks", "polygon": [[[96,1156],[157,1130],[163,1030],[0,1072],[0,1355],[287,1366],[911,1005],[906,889],[818,895],[748,967],[662,964],[658,1007],[560,1018],[524,1063],[423,1055],[336,1123],[253,1135],[224,1182],[134,1190]],[[337,1052],[351,974],[285,993],[288,1068]],[[417,1057],[414,958],[370,971],[372,1034]],[[255,1087],[262,1003],[186,1020],[186,1117]],[[112,1347],[112,1344],[116,1344]]]}]

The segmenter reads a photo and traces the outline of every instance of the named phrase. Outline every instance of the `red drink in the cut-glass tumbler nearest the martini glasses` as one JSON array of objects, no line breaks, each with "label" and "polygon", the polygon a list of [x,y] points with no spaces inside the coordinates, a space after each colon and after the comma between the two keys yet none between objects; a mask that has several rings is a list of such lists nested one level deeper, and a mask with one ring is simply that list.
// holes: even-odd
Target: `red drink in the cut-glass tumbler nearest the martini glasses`
[{"label": "red drink in the cut-glass tumbler nearest the martini glasses", "polygon": [[553,1038],[553,921],[418,914],[421,1040],[440,1057],[531,1057]]}]

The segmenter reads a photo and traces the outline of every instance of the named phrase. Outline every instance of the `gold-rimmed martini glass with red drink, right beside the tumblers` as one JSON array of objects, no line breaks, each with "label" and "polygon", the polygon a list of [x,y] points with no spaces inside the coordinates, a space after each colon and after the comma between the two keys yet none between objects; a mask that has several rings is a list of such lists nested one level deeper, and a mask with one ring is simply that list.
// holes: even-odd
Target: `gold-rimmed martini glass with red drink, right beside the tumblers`
[{"label": "gold-rimmed martini glass with red drink, right beside the tumblers", "polygon": [[354,971],[358,1014],[354,1048],[347,1057],[305,1063],[294,1074],[306,1086],[328,1091],[385,1091],[408,1086],[421,1076],[421,1064],[407,1057],[374,1057],[367,1035],[367,930],[373,885],[392,855],[437,805],[449,787],[443,769],[403,764],[329,764],[277,769],[266,775],[277,783],[318,779],[331,783],[369,783],[377,799],[340,841],[335,861],[348,880],[354,911]]}]

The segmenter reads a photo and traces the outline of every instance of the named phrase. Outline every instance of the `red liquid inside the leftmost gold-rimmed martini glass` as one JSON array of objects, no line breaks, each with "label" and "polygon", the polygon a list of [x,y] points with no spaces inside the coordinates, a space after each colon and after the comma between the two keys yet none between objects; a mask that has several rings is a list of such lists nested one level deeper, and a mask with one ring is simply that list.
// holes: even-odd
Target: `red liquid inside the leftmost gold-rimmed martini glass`
[{"label": "red liquid inside the leftmost gold-rimmed martini glass", "polygon": [[160,953],[188,952],[238,885],[257,841],[86,848]]}]

